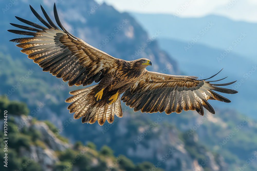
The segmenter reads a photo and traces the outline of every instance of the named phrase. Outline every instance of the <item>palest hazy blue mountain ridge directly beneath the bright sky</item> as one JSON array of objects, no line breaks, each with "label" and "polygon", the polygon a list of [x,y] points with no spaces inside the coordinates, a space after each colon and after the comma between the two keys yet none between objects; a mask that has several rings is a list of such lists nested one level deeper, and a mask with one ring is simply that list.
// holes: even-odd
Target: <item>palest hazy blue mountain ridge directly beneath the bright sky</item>
[{"label": "palest hazy blue mountain ridge directly beneath the bright sky", "polygon": [[204,44],[222,51],[232,46],[233,53],[257,62],[257,23],[233,21],[216,15],[181,18],[179,15],[130,14],[149,34],[160,30],[162,33],[158,38],[175,39],[190,44],[199,36],[195,44]]}]

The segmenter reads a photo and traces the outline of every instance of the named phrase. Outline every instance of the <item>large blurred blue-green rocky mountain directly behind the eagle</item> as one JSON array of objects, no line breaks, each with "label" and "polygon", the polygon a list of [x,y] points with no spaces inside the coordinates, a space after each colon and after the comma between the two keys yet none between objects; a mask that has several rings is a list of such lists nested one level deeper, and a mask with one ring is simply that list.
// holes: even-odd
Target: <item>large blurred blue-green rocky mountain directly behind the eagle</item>
[{"label": "large blurred blue-green rocky mountain directly behind the eagle", "polygon": [[[0,3],[2,6],[6,5],[4,2]],[[45,10],[50,12],[50,17],[54,18],[52,15],[52,2],[33,1],[30,3],[38,12],[40,12],[39,3],[41,3]],[[62,136],[58,137],[62,142],[68,144],[69,147],[67,149],[72,150],[67,153],[65,149],[62,152],[55,152],[53,147],[49,146],[48,143],[44,143],[48,145],[49,149],[54,150],[60,160],[59,164],[62,169],[64,165],[67,166],[67,158],[64,156],[68,156],[70,161],[72,159],[67,154],[74,154],[74,150],[76,154],[78,153],[73,146],[79,140],[83,142],[82,146],[87,145],[88,142],[93,142],[96,145],[94,147],[96,150],[91,146],[93,148],[92,153],[96,155],[93,157],[93,162],[97,160],[97,164],[103,163],[101,166],[104,168],[106,167],[106,158],[98,152],[101,151],[100,147],[107,145],[114,151],[114,156],[121,154],[132,161],[128,162],[127,165],[138,162],[142,164],[144,161],[151,162],[150,166],[149,163],[142,166],[143,168],[148,167],[147,171],[149,169],[154,170],[153,165],[158,165],[159,162],[160,167],[166,170],[173,168],[174,170],[232,171],[242,167],[244,164],[247,165],[247,168],[256,170],[257,166],[254,162],[250,163],[250,165],[246,163],[249,157],[254,156],[254,144],[257,143],[255,137],[256,122],[250,119],[247,124],[243,124],[242,129],[238,128],[240,131],[236,132],[237,129],[235,130],[235,127],[237,124],[240,125],[244,122],[243,118],[245,117],[237,113],[236,110],[219,109],[214,106],[217,111],[216,115],[210,115],[210,113],[205,112],[204,117],[200,117],[195,111],[182,112],[181,114],[172,113],[171,115],[164,113],[141,114],[140,112],[134,113],[132,109],[122,104],[124,116],[123,118],[115,117],[112,124],[106,122],[103,126],[99,126],[98,124],[81,124],[80,119],[75,120],[73,114],[69,114],[67,110],[68,104],[64,100],[70,96],[69,91],[82,87],[68,87],[67,83],[63,83],[61,79],[42,72],[41,68],[32,63],[30,59],[27,59],[26,55],[19,52],[19,48],[8,42],[12,38],[20,37],[20,35],[5,31],[13,28],[8,24],[9,22],[21,24],[14,18],[14,15],[37,22],[28,5],[27,1],[15,1],[15,4],[4,13],[4,17],[0,18],[2,22],[1,29],[3,29],[3,31],[1,30],[2,43],[0,43],[0,79],[2,81],[0,94],[3,95],[5,100],[8,98],[24,102],[30,110],[29,116],[41,121],[48,120],[55,127],[51,126],[49,122],[36,121],[35,123],[46,124],[54,134],[62,135],[69,139],[68,142]],[[92,7],[93,9],[94,7],[96,8],[95,11]],[[148,57],[155,66],[149,69],[167,74],[180,74],[184,69],[183,67],[179,68],[176,60],[161,50],[158,41],[156,41],[160,32],[156,30],[156,35],[147,34],[128,13],[118,13],[113,7],[106,4],[98,6],[94,1],[58,1],[57,9],[61,21],[68,31],[89,44],[102,48],[101,50],[110,55],[126,60],[132,60],[134,56],[138,58]],[[125,25],[126,19],[128,22]],[[117,27],[120,27],[120,25],[123,28],[119,30]],[[110,40],[107,43],[106,38],[108,39],[110,35],[113,35],[112,33],[115,36],[112,36],[112,39],[109,38]],[[147,45],[145,49],[142,47],[144,44]],[[222,61],[226,59],[224,58]],[[214,73],[216,72],[214,71]],[[194,75],[198,76],[197,74]],[[224,74],[227,75],[226,73]],[[246,102],[250,103],[250,100]],[[218,103],[219,105],[221,104],[221,102]],[[235,108],[234,106],[232,107]],[[13,115],[17,111],[24,111],[21,114],[26,112],[20,107],[15,107],[13,110],[8,109],[8,111]],[[13,117],[15,118],[15,116]],[[17,120],[19,121],[19,118]],[[14,121],[10,122],[17,124]],[[33,121],[30,124],[33,125]],[[230,138],[232,131],[236,132],[236,134],[229,139],[229,142],[225,142],[226,145],[221,147],[219,143],[223,143],[223,138],[226,140],[227,136]],[[13,137],[17,136],[20,139],[18,134],[21,133],[22,139],[29,142],[30,146],[36,146],[34,142],[27,140],[31,139],[30,135],[34,134],[32,130],[16,133],[13,134]],[[24,136],[29,137],[23,138]],[[17,142],[13,147],[24,146],[20,143],[23,141],[19,140]],[[170,155],[172,148],[176,152]],[[16,153],[20,155],[19,151]],[[168,154],[170,156],[165,159],[164,157]],[[19,159],[21,156],[16,158],[15,155],[13,154],[13,158],[17,160],[17,166],[20,167],[19,163],[23,163]],[[87,159],[87,157],[85,158]],[[205,159],[208,162],[204,163]],[[24,161],[26,160],[28,159],[26,158]],[[86,163],[88,160],[83,161]],[[141,168],[141,165],[139,167]]]}]

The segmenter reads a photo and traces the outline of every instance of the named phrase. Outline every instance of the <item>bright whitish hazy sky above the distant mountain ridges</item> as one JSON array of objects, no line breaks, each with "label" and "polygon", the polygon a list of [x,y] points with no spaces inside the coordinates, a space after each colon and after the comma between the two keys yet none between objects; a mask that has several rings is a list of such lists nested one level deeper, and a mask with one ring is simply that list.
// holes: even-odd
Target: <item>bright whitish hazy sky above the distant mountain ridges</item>
[{"label": "bright whitish hazy sky above the distant mountain ridges", "polygon": [[[96,0],[102,1],[102,0]],[[233,20],[257,22],[257,0],[104,0],[120,12],[178,14],[201,17],[208,14]],[[180,12],[178,12],[180,11]]]}]

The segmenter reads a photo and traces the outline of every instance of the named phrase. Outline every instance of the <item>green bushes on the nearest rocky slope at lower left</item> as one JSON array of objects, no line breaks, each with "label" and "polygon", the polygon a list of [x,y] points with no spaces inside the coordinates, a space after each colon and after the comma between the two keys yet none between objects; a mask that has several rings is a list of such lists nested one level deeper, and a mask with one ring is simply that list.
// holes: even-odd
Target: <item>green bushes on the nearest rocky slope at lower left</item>
[{"label": "green bushes on the nearest rocky slope at lower left", "polygon": [[[19,125],[16,123],[14,116],[28,114],[28,110],[24,103],[10,102],[6,98],[0,98],[0,110],[7,110],[8,108],[8,168],[4,167],[3,171],[14,171],[23,169],[24,171],[42,171],[42,167],[36,162],[35,158],[29,158],[21,153],[21,148],[30,152],[31,146],[46,149],[49,148],[42,138],[42,133],[33,127],[33,124],[38,123],[35,118],[27,123],[31,126]],[[16,113],[11,115],[10,109],[12,106],[19,106],[19,110],[23,113]],[[17,109],[17,108],[14,108]],[[25,113],[26,111],[26,113]],[[15,112],[15,111],[13,111]],[[16,117],[16,116],[15,116]],[[2,120],[3,121],[3,120]],[[33,122],[32,122],[33,121]],[[45,121],[49,129],[53,133],[58,133],[58,129],[49,121]],[[0,132],[0,138],[3,139],[3,131]],[[57,138],[64,139],[62,136]],[[153,167],[152,163],[144,162],[137,165],[126,158],[124,155],[115,157],[113,150],[108,146],[103,146],[99,151],[96,150],[96,145],[88,142],[84,146],[80,141],[76,142],[72,148],[67,148],[64,151],[55,151],[59,161],[54,163],[53,170],[67,170],[72,171],[76,168],[78,170],[94,171],[94,170],[127,170],[127,171],[148,171]],[[4,162],[5,154],[3,150],[0,151],[0,162]],[[162,169],[157,169],[162,171]]]}]

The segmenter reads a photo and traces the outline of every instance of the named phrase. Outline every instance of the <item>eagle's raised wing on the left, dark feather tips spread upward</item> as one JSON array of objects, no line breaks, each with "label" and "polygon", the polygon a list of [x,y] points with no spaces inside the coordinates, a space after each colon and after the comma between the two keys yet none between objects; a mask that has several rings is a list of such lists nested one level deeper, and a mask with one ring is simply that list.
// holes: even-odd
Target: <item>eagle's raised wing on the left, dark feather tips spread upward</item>
[{"label": "eagle's raised wing on the left, dark feather tips spread upward", "polygon": [[49,71],[57,78],[62,78],[64,82],[69,81],[69,86],[81,84],[85,86],[94,81],[99,82],[114,65],[121,61],[70,34],[62,26],[55,4],[54,17],[62,30],[54,25],[42,6],[42,12],[48,22],[31,6],[30,9],[45,27],[16,17],[34,28],[10,23],[26,31],[8,31],[33,37],[16,38],[10,41],[20,43],[16,46],[23,48],[22,53],[33,59],[33,62],[43,68],[43,71]]}]

